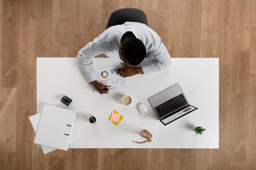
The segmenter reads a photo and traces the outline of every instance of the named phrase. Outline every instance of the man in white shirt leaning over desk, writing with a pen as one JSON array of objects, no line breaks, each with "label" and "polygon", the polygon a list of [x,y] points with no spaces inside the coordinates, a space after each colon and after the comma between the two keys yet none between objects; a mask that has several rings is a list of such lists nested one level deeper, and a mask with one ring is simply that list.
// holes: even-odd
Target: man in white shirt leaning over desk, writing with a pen
[{"label": "man in white shirt leaning over desk, writing with a pen", "polygon": [[[98,83],[95,76],[92,58],[105,54],[109,58],[119,58],[124,62],[124,68],[119,68],[122,77],[136,74],[145,75],[161,71],[171,66],[171,57],[161,42],[161,38],[147,25],[139,22],[125,22],[111,26],[101,35],[89,42],[77,55],[79,65],[88,83],[100,91],[108,93],[108,86]],[[139,65],[145,57],[155,57],[155,60],[141,67]]]}]

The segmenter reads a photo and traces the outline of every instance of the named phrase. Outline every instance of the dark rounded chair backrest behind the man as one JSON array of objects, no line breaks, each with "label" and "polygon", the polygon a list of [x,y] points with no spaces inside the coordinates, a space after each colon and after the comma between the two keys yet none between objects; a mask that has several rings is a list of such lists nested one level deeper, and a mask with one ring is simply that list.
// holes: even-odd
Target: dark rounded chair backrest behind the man
[{"label": "dark rounded chair backrest behind the man", "polygon": [[125,22],[140,22],[148,25],[146,14],[137,8],[123,8],[114,11],[109,19],[106,29],[110,26],[121,25]]}]

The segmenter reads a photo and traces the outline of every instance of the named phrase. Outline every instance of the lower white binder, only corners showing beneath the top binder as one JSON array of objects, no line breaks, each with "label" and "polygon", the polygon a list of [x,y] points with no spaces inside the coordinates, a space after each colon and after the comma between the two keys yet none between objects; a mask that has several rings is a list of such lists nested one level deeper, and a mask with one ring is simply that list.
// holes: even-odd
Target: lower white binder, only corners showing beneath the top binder
[{"label": "lower white binder, only corners showing beneath the top binder", "polygon": [[[38,127],[38,124],[39,124],[39,121],[40,121],[41,113],[42,112],[37,113],[37,114],[35,114],[33,116],[29,116],[30,123],[31,123],[35,133],[37,131],[37,127]],[[75,137],[74,134],[72,134],[71,138],[70,138],[70,144],[75,142],[75,141],[76,141],[76,137]],[[43,150],[44,154],[47,154],[49,152],[52,152],[52,151],[56,150],[56,148],[52,148],[52,147],[44,146],[44,145],[39,145],[39,144],[37,144],[37,148],[41,148]]]}]

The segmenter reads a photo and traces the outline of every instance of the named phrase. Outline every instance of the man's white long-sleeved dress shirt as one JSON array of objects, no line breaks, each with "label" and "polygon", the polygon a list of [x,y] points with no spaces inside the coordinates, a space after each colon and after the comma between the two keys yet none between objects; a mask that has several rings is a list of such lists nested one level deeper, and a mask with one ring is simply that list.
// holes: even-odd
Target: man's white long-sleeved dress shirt
[{"label": "man's white long-sleeved dress shirt", "polygon": [[139,22],[125,22],[109,27],[78,52],[79,65],[87,82],[96,80],[92,58],[99,54],[105,54],[109,58],[119,58],[121,38],[128,31],[146,46],[146,57],[152,57],[152,55],[155,57],[155,60],[149,64],[141,66],[145,75],[171,66],[171,57],[155,31]]}]

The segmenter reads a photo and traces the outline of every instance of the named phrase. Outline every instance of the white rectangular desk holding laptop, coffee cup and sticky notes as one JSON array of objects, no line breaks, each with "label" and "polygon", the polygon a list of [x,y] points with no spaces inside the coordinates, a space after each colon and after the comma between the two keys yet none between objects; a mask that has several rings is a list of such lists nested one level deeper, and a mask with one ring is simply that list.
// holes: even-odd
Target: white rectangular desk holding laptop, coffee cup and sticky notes
[{"label": "white rectangular desk holding laptop, coffee cup and sticky notes", "polygon": [[[121,60],[94,58],[94,67],[119,65]],[[76,142],[69,148],[218,148],[219,147],[219,60],[218,58],[173,58],[172,66],[150,75],[128,77],[128,89],[105,95],[93,93],[83,76],[76,58],[37,58],[37,111],[43,104],[57,105],[64,95],[73,101],[65,108],[78,111],[73,132]],[[191,105],[198,110],[164,126],[151,108],[148,97],[175,83],[182,86]],[[132,97],[132,104],[119,102],[123,95]],[[148,115],[137,109],[144,103]],[[117,110],[124,119],[115,126],[108,117]],[[91,125],[87,115],[97,116]],[[203,126],[202,136],[193,128]],[[153,134],[151,143],[144,141],[141,130]]]}]

